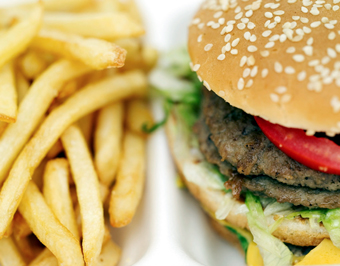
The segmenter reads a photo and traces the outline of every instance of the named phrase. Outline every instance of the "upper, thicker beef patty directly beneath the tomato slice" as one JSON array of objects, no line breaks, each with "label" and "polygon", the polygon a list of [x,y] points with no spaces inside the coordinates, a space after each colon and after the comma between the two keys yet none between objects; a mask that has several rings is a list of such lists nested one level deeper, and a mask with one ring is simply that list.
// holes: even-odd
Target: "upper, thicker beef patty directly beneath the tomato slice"
[{"label": "upper, thicker beef patty directly beneath the tomato slice", "polygon": [[240,174],[265,175],[281,183],[313,189],[339,190],[340,176],[318,172],[279,150],[253,116],[205,90],[202,115],[222,161]]}]

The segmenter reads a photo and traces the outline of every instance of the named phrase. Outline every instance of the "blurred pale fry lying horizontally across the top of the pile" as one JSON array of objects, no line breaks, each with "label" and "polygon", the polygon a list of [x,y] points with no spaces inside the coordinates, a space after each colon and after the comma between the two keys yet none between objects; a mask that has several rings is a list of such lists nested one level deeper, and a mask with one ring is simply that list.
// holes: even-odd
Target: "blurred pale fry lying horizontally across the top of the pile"
[{"label": "blurred pale fry lying horizontally across the top of the pile", "polygon": [[127,13],[46,13],[44,26],[84,37],[119,39],[138,37],[144,28]]}]

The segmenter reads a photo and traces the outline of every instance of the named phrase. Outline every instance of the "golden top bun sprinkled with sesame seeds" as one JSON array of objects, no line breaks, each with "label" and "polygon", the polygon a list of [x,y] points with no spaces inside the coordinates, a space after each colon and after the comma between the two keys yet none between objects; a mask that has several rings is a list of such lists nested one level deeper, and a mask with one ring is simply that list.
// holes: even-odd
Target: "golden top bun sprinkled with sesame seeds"
[{"label": "golden top bun sprinkled with sesame seeds", "polygon": [[205,1],[189,29],[192,69],[209,90],[249,114],[340,133],[339,5]]}]

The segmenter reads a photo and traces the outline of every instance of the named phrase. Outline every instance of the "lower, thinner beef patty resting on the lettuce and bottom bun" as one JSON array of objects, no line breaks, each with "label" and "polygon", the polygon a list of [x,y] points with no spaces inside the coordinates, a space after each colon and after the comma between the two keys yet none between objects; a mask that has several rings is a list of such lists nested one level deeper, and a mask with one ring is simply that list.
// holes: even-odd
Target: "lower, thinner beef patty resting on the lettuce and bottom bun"
[{"label": "lower, thinner beef patty resting on the lettuce and bottom bun", "polygon": [[294,205],[310,208],[334,209],[340,207],[340,191],[291,186],[273,180],[268,176],[239,174],[233,165],[227,161],[222,161],[221,155],[211,140],[211,133],[204,119],[200,119],[196,123],[194,130],[198,136],[200,149],[207,161],[217,165],[222,174],[231,177],[227,185],[228,188],[233,190],[234,195],[249,190],[261,197],[275,198],[278,202],[290,202]]}]

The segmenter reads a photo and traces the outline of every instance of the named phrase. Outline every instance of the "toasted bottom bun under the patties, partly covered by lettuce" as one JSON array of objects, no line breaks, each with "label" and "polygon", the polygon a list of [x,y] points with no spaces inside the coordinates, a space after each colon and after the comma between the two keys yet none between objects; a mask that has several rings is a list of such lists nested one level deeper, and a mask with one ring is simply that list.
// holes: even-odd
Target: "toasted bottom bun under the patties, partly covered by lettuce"
[{"label": "toasted bottom bun under the patties, partly covered by lettuce", "polygon": [[[204,209],[210,214],[215,214],[221,202],[223,202],[225,193],[220,190],[199,186],[187,180],[186,176],[183,174],[184,163],[188,161],[191,161],[192,163],[197,162],[197,158],[192,156],[186,157],[186,160],[183,160],[183,158],[179,157],[179,152],[176,152],[176,143],[184,143],[185,141],[184,139],[179,139],[183,136],[178,133],[178,130],[174,130],[174,128],[177,128],[177,123],[176,116],[171,114],[166,125],[166,133],[170,151],[173,155],[172,157],[174,158],[179,175],[190,193],[200,202]],[[235,199],[232,200],[235,203],[225,221],[236,227],[249,230],[246,214],[238,213],[242,202]],[[274,223],[274,218],[275,217],[272,217],[271,221],[267,221]],[[298,217],[291,220],[285,219],[273,232],[273,235],[281,241],[297,246],[317,246],[323,239],[329,238],[329,234],[322,224],[311,228],[308,219]]]}]

